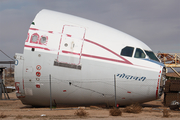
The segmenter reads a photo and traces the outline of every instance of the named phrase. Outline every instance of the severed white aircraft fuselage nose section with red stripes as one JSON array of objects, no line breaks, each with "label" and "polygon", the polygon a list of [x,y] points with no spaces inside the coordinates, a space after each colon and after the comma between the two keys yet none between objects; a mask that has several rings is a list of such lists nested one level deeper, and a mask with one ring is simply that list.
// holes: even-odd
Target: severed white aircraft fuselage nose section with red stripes
[{"label": "severed white aircraft fuselage nose section with red stripes", "polygon": [[[124,47],[132,56],[123,56]],[[135,58],[143,42],[105,25],[50,10],[40,11],[30,26],[23,54],[16,54],[17,97],[34,106],[53,104],[114,105],[159,98],[163,65]],[[116,76],[114,78],[114,75]]]}]

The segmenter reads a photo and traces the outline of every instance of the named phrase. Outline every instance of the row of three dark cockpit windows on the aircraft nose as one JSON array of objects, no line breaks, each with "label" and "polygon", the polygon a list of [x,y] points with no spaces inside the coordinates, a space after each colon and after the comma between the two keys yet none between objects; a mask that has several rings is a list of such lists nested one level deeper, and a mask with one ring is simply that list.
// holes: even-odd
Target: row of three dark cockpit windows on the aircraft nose
[{"label": "row of three dark cockpit windows on the aircraft nose", "polygon": [[[127,57],[132,57],[133,51],[134,51],[134,47],[126,46],[125,48],[122,49],[121,55],[127,56]],[[159,61],[152,51],[145,50],[145,53],[148,55],[148,57],[150,59]],[[142,49],[136,48],[134,58],[145,58],[146,57],[145,53]]]}]

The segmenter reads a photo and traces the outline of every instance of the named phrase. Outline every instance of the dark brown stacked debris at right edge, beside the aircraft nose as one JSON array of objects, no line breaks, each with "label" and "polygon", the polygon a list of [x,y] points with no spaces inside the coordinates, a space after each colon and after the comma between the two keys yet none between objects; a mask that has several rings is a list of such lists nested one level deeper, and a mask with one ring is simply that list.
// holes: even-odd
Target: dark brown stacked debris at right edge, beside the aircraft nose
[{"label": "dark brown stacked debris at right edge, beside the aircraft nose", "polygon": [[180,80],[167,80],[164,90],[164,105],[171,106],[172,102],[180,103]]}]

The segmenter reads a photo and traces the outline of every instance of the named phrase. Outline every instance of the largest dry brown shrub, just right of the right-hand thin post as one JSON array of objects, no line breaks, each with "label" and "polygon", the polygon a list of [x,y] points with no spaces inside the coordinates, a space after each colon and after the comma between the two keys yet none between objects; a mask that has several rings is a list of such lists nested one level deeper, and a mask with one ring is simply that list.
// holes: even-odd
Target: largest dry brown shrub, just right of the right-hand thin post
[{"label": "largest dry brown shrub, just right of the right-hand thin post", "polygon": [[127,113],[140,113],[141,111],[142,111],[142,107],[138,103],[127,106],[124,109],[124,112],[127,112]]}]

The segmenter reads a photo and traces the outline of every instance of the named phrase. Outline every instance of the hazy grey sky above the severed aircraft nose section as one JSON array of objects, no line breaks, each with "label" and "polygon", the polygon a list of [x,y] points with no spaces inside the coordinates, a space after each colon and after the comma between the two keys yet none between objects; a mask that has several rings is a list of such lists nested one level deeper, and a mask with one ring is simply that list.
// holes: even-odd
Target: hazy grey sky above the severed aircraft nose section
[{"label": "hazy grey sky above the severed aircraft nose section", "polygon": [[[42,9],[90,19],[130,34],[154,52],[180,53],[180,0],[0,0],[0,50],[22,53]],[[0,61],[10,60],[0,52]]]}]

